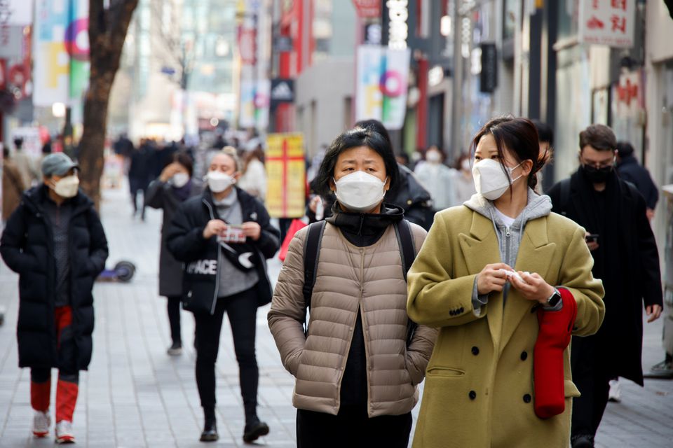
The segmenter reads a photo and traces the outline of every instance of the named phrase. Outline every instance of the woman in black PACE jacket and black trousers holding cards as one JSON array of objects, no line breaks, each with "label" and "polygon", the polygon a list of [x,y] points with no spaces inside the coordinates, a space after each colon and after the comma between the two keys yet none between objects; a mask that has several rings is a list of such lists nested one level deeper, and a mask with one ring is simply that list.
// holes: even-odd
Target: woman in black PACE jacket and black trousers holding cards
[{"label": "woman in black PACE jacket and black trousers holding cards", "polygon": [[215,361],[226,311],[238,360],[245,407],[243,440],[268,434],[257,417],[259,370],[254,353],[257,307],[271,302],[266,259],[280,246],[280,232],[254,197],[233,184],[240,177],[236,148],[212,156],[203,196],[182,202],[166,238],[168,250],[184,263],[182,303],[194,314],[196,386],[203,407],[200,440],[218,439],[215,421]]}]

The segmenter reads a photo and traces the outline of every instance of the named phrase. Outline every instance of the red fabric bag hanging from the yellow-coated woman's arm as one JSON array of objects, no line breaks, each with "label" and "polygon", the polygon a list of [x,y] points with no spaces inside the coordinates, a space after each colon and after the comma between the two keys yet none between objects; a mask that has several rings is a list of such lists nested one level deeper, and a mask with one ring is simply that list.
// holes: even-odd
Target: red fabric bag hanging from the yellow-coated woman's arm
[{"label": "red fabric bag hanging from the yellow-coated woman's arm", "polygon": [[562,414],[566,407],[563,378],[563,352],[570,339],[577,317],[575,297],[565,288],[559,288],[562,309],[538,309],[540,331],[533,354],[533,382],[535,384],[535,414],[541,419]]}]

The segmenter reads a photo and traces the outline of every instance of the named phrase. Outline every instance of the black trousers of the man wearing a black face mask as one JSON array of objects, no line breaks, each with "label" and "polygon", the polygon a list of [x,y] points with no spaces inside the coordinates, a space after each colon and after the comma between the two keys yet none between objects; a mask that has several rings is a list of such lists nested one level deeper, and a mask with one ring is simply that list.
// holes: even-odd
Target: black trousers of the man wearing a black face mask
[{"label": "black trousers of the man wearing a black face mask", "polygon": [[601,366],[600,350],[593,336],[573,337],[573,382],[582,396],[573,398],[571,435],[596,435],[608,404],[610,380],[615,376]]}]

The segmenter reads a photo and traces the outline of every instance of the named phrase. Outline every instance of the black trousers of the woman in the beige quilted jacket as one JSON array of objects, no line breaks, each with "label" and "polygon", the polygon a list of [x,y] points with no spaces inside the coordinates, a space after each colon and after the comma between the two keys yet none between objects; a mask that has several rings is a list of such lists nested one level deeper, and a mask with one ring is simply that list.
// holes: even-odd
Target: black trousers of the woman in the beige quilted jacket
[{"label": "black trousers of the woman in the beige quilted jacket", "polygon": [[297,448],[407,448],[412,413],[369,419],[364,407],[339,414],[297,410]]}]

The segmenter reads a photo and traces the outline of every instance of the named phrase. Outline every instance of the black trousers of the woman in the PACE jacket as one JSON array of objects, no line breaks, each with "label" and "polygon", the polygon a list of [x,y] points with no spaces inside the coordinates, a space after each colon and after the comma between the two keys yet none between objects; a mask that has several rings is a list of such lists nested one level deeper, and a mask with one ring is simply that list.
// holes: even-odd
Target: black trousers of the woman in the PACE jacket
[{"label": "black trousers of the woman in the PACE jacket", "polygon": [[215,361],[219,350],[224,311],[229,316],[233,334],[233,349],[238,361],[240,394],[243,397],[245,418],[256,416],[259,370],[254,354],[254,335],[257,320],[257,295],[254,288],[219,297],[215,314],[194,313],[196,323],[196,387],[204,409],[215,407]]}]

